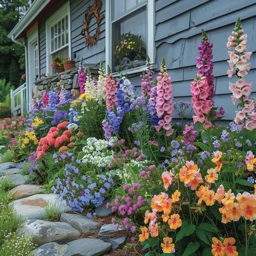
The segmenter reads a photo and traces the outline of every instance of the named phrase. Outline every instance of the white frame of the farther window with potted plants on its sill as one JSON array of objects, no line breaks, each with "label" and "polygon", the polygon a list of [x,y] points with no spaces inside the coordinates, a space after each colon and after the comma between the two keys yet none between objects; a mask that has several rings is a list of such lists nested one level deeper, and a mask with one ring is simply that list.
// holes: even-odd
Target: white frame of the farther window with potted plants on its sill
[{"label": "white frame of the farther window with potted plants on its sill", "polygon": [[[46,73],[52,74],[52,68],[50,66],[52,58],[51,55],[51,27],[55,25],[58,21],[68,15],[68,29],[69,29],[69,40],[68,40],[68,48],[69,48],[69,56],[71,57],[71,25],[70,25],[70,4],[69,1],[66,2],[61,8],[58,9],[47,21],[45,22],[46,29]],[[67,45],[60,47],[57,51],[65,48]]]}]

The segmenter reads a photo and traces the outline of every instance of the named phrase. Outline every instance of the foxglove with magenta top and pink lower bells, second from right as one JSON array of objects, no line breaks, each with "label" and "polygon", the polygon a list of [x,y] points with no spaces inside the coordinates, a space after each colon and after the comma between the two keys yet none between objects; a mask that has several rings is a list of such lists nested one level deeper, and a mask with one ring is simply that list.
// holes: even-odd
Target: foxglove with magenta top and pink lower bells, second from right
[{"label": "foxglove with magenta top and pink lower bells, second from right", "polygon": [[[202,30],[202,41],[198,46],[199,55],[197,57],[197,76],[193,82],[191,82],[191,95],[193,110],[196,116],[193,116],[194,124],[197,122],[206,122],[206,127],[211,127],[211,119],[217,118],[220,112],[215,113],[213,110],[213,97],[214,92],[214,76],[213,63],[212,63],[212,43],[208,41],[206,32]],[[210,113],[211,112],[211,113]]]}]

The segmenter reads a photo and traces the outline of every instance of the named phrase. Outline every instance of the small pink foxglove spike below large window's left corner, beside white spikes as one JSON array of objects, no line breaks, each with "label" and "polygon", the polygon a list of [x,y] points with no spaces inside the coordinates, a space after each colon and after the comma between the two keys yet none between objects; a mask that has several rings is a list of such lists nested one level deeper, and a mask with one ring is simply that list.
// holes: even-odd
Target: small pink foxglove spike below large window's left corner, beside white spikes
[{"label": "small pink foxglove spike below large window's left corner, beside white spikes", "polygon": [[107,110],[112,111],[114,109],[114,105],[117,106],[117,84],[116,81],[112,78],[112,73],[109,70],[109,72],[106,73],[106,79],[105,79],[105,88],[106,88],[106,107]]}]

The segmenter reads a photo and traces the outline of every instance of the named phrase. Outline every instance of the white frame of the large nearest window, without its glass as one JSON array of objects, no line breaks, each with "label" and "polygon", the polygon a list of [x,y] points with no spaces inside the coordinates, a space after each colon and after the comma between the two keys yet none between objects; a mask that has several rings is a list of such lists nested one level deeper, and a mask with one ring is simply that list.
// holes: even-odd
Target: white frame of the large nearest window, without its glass
[{"label": "white frame of the large nearest window, without its glass", "polygon": [[[155,57],[156,57],[156,49],[155,49],[155,43],[154,43],[154,0],[147,0],[147,2],[138,4],[135,8],[125,12],[122,16],[118,16],[116,19],[112,21],[112,0],[106,0],[106,66],[109,65],[112,68],[112,23],[117,22],[118,19],[122,19],[126,15],[132,14],[132,12],[138,10],[142,6],[146,6],[147,9],[147,55],[149,55],[151,59],[151,67],[155,68],[156,65],[154,65]],[[138,66],[137,68],[133,69],[127,69],[124,70],[125,73],[128,75],[133,73],[139,73],[142,72],[147,68],[146,64],[144,66]],[[119,76],[119,72],[113,72],[113,76],[117,77]]]}]

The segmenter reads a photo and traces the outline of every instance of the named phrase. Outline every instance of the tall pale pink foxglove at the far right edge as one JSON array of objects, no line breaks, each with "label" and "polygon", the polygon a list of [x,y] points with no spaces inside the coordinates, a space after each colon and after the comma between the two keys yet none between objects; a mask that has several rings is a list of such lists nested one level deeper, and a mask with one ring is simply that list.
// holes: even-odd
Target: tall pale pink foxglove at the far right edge
[{"label": "tall pale pink foxglove at the far right edge", "polygon": [[235,22],[232,36],[228,37],[227,42],[228,49],[235,48],[235,51],[228,51],[230,60],[227,60],[227,62],[230,65],[230,69],[227,70],[227,75],[232,77],[236,74],[238,77],[236,83],[229,83],[233,104],[240,100],[240,106],[242,107],[240,111],[235,111],[234,122],[240,128],[245,127],[247,130],[253,130],[256,128],[256,112],[255,101],[249,99],[252,92],[252,82],[247,83],[244,78],[251,68],[251,63],[247,63],[247,60],[250,59],[252,52],[246,51],[247,34],[242,35],[242,33],[244,33],[244,30],[238,18],[237,22]]}]

